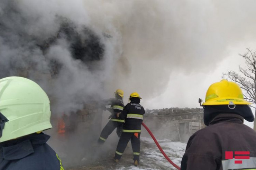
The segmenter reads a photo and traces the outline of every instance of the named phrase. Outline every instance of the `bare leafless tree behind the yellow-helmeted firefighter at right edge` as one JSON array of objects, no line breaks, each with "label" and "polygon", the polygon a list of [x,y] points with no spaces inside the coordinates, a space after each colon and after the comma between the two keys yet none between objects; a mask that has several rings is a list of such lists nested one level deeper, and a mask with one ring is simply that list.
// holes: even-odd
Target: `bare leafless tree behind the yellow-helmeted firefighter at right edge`
[{"label": "bare leafless tree behind the yellow-helmeted firefighter at right edge", "polygon": [[[256,51],[252,52],[250,49],[246,49],[247,53],[241,55],[245,59],[246,66],[239,66],[239,72],[229,71],[222,73],[222,78],[228,78],[239,84],[239,86],[245,91],[244,99],[256,103]],[[255,108],[254,106],[251,106]],[[256,110],[255,110],[256,113]],[[254,130],[256,131],[256,121],[254,121]]]}]

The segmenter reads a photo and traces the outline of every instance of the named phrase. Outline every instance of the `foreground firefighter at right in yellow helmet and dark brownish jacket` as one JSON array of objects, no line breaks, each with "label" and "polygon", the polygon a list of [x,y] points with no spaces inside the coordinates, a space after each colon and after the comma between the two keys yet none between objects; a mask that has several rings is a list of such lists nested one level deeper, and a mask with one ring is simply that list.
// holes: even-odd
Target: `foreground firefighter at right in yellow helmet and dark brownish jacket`
[{"label": "foreground firefighter at right in yellow helmet and dark brownish jacket", "polygon": [[[248,104],[252,103],[244,100],[241,88],[235,82],[221,80],[213,83],[202,104],[207,127],[190,137],[181,170],[256,169],[256,132],[243,124],[244,119],[254,121]],[[250,158],[239,159],[239,154]]]}]

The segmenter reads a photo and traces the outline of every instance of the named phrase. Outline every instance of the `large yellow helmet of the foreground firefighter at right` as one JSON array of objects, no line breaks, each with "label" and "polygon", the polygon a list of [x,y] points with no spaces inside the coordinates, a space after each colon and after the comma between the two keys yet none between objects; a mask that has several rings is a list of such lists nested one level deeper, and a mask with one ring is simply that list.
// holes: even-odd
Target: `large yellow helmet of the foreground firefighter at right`
[{"label": "large yellow helmet of the foreground firefighter at right", "polygon": [[241,88],[235,82],[221,80],[213,83],[205,94],[202,105],[252,104],[244,100]]}]

